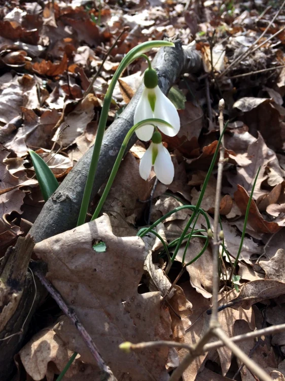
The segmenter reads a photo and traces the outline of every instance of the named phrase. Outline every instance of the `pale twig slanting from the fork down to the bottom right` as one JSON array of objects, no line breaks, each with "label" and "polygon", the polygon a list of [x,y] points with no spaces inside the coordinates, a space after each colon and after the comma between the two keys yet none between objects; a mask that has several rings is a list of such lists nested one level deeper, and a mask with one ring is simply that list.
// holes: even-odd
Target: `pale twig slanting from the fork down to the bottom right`
[{"label": "pale twig slanting from the fork down to the bottom right", "polygon": [[256,376],[259,377],[261,381],[272,381],[272,378],[261,368],[259,367],[253,360],[251,360],[244,352],[240,350],[240,348],[224,333],[222,328],[218,327],[213,330],[213,333],[223,341],[225,346],[227,346],[232,353],[239,358],[244,365],[252,371]]}]

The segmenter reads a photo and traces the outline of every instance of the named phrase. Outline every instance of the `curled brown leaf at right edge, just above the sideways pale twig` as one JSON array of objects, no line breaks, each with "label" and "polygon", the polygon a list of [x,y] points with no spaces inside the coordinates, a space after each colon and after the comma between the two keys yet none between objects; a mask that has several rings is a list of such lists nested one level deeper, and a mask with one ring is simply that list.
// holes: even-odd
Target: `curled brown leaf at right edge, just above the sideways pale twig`
[{"label": "curled brown leaf at right edge, just above the sideways pale twig", "polygon": [[231,300],[233,308],[250,308],[266,299],[276,298],[285,293],[285,282],[271,279],[253,280],[242,286],[239,295]]}]

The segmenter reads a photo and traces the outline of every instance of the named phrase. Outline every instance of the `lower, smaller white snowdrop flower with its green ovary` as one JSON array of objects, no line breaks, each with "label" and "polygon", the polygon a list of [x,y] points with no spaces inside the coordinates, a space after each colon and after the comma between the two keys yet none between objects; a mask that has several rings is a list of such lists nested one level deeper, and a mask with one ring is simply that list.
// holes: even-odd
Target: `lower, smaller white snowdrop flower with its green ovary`
[{"label": "lower, smaller white snowdrop flower with its green ovary", "polygon": [[163,184],[170,184],[174,177],[174,166],[168,150],[162,144],[161,134],[155,132],[152,136],[152,142],[144,156],[142,156],[139,164],[139,174],[147,180],[152,166],[156,177]]}]

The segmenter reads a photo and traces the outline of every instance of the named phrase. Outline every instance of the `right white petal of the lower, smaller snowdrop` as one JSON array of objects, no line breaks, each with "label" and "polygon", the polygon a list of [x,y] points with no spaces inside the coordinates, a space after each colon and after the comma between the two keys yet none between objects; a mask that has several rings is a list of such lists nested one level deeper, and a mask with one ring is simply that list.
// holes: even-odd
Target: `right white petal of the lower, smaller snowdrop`
[{"label": "right white petal of the lower, smaller snowdrop", "polygon": [[174,166],[170,153],[162,143],[158,144],[158,154],[154,163],[154,171],[156,177],[163,184],[168,185],[172,182],[174,177]]}]

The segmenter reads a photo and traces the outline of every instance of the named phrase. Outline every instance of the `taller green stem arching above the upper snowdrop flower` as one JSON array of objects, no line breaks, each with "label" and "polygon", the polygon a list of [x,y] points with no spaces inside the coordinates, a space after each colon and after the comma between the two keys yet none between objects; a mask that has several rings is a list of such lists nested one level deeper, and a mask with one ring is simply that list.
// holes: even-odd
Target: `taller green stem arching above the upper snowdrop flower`
[{"label": "taller green stem arching above the upper snowdrop flower", "polygon": [[112,101],[112,94],[115,88],[115,85],[120,78],[122,72],[124,69],[130,65],[132,61],[134,61],[136,58],[138,58],[142,53],[145,53],[149,51],[150,49],[154,47],[161,47],[161,46],[174,46],[173,43],[170,43],[168,41],[147,41],[142,44],[139,44],[138,46],[134,47],[131,49],[127,55],[122,59],[118,69],[116,70],[114,77],[112,78],[112,81],[109,85],[108,90],[106,91],[105,97],[104,97],[104,102],[103,102],[103,107],[101,111],[101,116],[99,119],[99,124],[98,124],[98,130],[97,130],[97,135],[96,135],[96,140],[93,148],[93,153],[92,153],[92,158],[91,158],[91,163],[90,163],[90,168],[85,184],[85,189],[84,189],[84,194],[83,194],[83,199],[82,199],[82,204],[79,212],[79,217],[78,217],[78,222],[77,226],[82,225],[85,223],[85,218],[90,202],[90,197],[92,193],[92,187],[95,179],[95,174],[97,170],[97,164],[99,160],[99,154],[100,154],[100,149],[102,145],[102,140],[103,140],[103,135],[105,132],[105,126],[106,122],[108,119],[108,112],[110,109],[111,101]]}]

